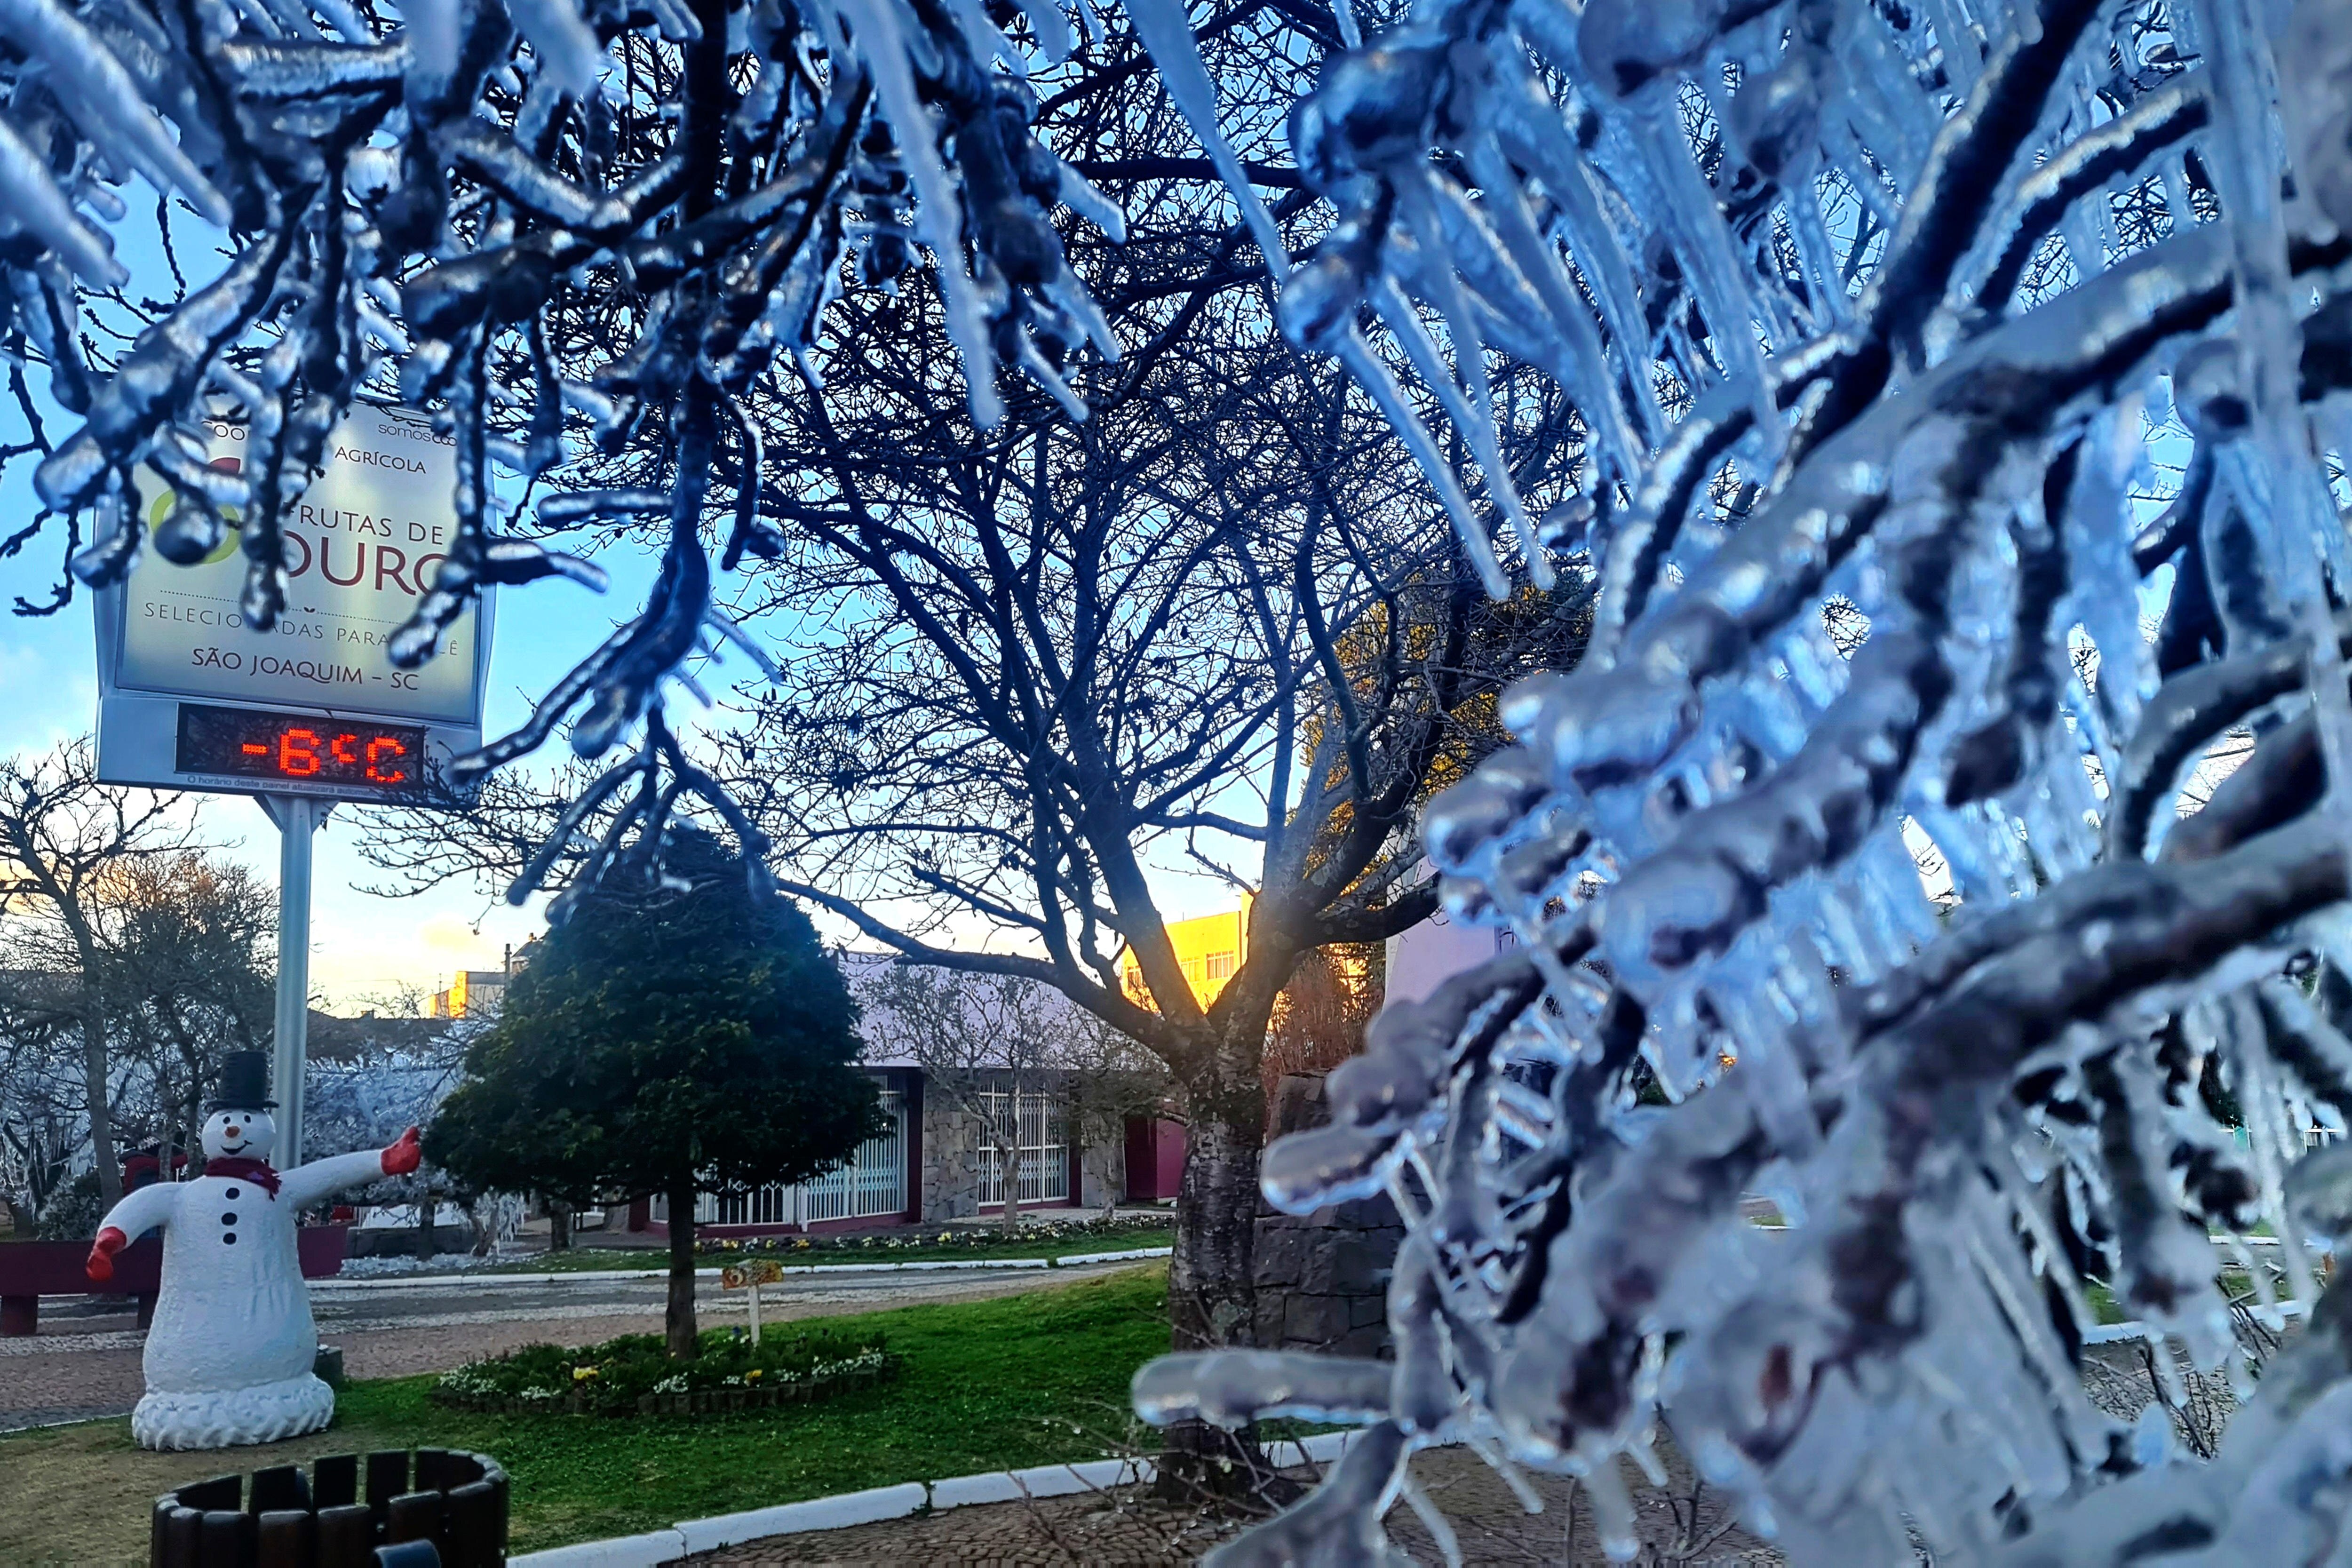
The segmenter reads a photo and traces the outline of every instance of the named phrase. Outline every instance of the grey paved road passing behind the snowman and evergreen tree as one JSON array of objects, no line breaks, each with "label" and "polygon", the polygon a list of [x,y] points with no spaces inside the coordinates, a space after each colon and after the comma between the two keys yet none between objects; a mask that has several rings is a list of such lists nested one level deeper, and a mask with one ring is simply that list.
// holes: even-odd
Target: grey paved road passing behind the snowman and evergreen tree
[{"label": "grey paved road passing behind the snowman and evergreen tree", "polygon": [[[915,1302],[960,1302],[1065,1286],[1122,1265],[938,1274],[795,1274],[760,1291],[760,1321],[840,1316]],[[1131,1265],[1124,1265],[1131,1267]],[[621,1333],[661,1333],[668,1281],[572,1274],[517,1284],[473,1274],[447,1284],[350,1288],[313,1284],[320,1340],[343,1349],[353,1378],[440,1373],[520,1345],[593,1345]],[[40,1333],[0,1340],[0,1432],[61,1420],[125,1415],[141,1394],[146,1335],[122,1298],[47,1298]],[[706,1328],[741,1324],[746,1293],[701,1279],[694,1312]]]}]

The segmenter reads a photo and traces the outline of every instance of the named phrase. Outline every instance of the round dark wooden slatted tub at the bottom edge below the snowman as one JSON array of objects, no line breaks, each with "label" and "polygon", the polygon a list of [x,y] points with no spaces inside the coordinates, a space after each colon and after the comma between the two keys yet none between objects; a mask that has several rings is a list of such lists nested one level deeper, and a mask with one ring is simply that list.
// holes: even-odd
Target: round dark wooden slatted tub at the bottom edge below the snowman
[{"label": "round dark wooden slatted tub at the bottom edge below the snowman", "polygon": [[245,1476],[214,1476],[165,1493],[155,1500],[148,1568],[499,1568],[506,1507],[506,1472],[487,1453],[334,1453],[313,1460],[308,1476],[299,1465],[278,1465],[256,1469],[252,1488]]}]

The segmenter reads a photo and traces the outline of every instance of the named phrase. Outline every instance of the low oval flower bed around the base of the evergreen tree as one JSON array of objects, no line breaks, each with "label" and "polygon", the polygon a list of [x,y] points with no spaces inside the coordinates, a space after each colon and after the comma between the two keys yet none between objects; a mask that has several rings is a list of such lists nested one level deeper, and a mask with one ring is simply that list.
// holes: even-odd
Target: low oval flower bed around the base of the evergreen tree
[{"label": "low oval flower bed around the base of the evergreen tree", "polygon": [[680,1361],[661,1335],[628,1333],[586,1349],[522,1349],[442,1373],[433,1401],[456,1410],[564,1415],[701,1415],[830,1399],[896,1375],[882,1335],[741,1328],[703,1335],[701,1354]]}]

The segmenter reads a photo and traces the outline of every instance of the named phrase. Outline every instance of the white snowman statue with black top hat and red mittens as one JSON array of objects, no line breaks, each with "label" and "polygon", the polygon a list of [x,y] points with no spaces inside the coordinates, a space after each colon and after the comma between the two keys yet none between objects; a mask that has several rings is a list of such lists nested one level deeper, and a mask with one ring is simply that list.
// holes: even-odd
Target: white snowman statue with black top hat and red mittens
[{"label": "white snowman statue with black top hat and red mittens", "polygon": [[273,1171],[268,1086],[268,1053],[230,1051],[205,1119],[205,1173],[127,1194],[89,1248],[89,1279],[106,1284],[115,1253],[162,1227],[146,1396],[132,1410],[141,1448],[275,1443],[334,1420],[334,1389],[310,1371],[318,1326],[294,1215],[343,1187],[407,1175],[421,1152],[412,1126],[388,1150]]}]

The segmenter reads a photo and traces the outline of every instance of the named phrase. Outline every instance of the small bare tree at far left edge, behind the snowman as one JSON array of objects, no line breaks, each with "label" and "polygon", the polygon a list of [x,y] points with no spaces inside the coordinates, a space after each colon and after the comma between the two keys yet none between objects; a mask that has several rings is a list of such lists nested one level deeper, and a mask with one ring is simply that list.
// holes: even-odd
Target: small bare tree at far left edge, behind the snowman
[{"label": "small bare tree at far left edge, behind the snowman", "polygon": [[101,785],[89,741],[0,764],[0,914],[12,945],[75,976],[82,1098],[99,1192],[122,1197],[111,1105],[103,905],[127,891],[129,870],[193,844],[193,816],[174,795]]}]

